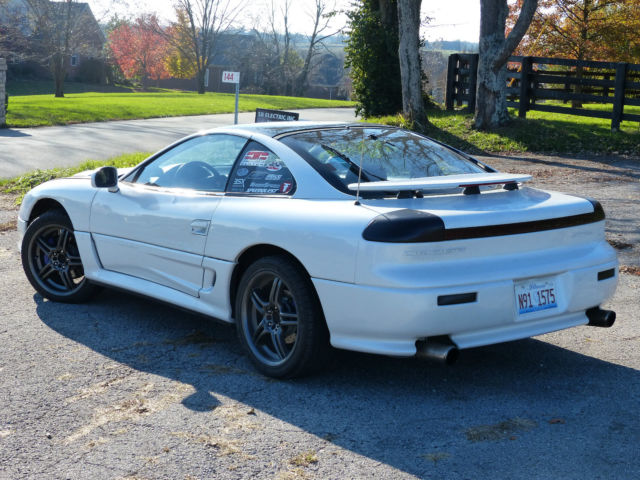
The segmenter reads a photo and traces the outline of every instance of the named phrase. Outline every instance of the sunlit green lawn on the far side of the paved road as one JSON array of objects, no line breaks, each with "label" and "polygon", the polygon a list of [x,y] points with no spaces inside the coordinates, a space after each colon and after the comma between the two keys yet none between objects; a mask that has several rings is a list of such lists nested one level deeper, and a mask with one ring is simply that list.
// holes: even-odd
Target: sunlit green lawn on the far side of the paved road
[{"label": "sunlit green lawn on the far side of the paved road", "polygon": [[[316,98],[240,95],[239,109],[298,109],[349,107],[352,102]],[[134,118],[173,117],[229,113],[235,108],[235,95],[164,90],[152,92],[69,93],[53,95],[12,95],[9,98],[9,127],[66,125],[69,123],[128,120]]]}]

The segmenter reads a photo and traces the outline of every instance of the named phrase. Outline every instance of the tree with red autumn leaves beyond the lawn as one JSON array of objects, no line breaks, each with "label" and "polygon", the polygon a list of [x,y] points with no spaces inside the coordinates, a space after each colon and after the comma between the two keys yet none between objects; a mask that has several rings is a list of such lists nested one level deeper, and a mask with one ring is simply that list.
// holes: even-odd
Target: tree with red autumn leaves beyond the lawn
[{"label": "tree with red autumn leaves beyond the lawn", "polygon": [[155,15],[141,15],[132,24],[123,23],[109,34],[109,46],[124,76],[140,79],[145,89],[149,78],[169,77],[165,64],[168,44],[157,28]]}]

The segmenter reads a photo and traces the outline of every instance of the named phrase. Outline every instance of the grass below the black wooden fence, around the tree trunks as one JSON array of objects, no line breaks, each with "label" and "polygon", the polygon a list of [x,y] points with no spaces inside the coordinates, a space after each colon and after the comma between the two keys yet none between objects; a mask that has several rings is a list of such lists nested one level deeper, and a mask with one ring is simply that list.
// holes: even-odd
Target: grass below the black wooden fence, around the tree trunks
[{"label": "grass below the black wooden fence, around the tree trunks", "polygon": [[[585,108],[597,108],[592,105]],[[640,113],[638,107],[625,107],[627,113]],[[462,111],[431,110],[433,124],[427,134],[436,140],[482,155],[490,153],[620,153],[640,155],[640,126],[637,122],[622,122],[619,132],[611,132],[611,121],[548,112],[527,112],[527,118],[517,118],[494,132],[474,130],[473,115]],[[368,121],[406,126],[398,116],[371,118]]]}]

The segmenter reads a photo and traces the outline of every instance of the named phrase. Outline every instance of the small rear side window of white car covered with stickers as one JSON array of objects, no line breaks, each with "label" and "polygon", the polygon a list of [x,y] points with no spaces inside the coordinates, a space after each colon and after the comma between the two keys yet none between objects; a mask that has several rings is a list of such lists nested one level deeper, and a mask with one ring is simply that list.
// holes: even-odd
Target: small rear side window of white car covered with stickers
[{"label": "small rear side window of white car covered with stickers", "polygon": [[249,142],[242,151],[227,191],[292,195],[296,189],[293,175],[275,153],[258,142]]}]

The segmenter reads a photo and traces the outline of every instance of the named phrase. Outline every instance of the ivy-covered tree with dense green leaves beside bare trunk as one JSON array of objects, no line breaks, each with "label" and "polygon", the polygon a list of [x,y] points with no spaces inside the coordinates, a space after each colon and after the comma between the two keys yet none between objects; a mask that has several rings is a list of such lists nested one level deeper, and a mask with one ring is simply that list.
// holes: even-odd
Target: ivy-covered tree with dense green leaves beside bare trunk
[{"label": "ivy-covered tree with dense green leaves beside bare trunk", "polygon": [[402,109],[396,0],[359,0],[347,12],[345,66],[350,68],[356,112],[366,117]]}]

